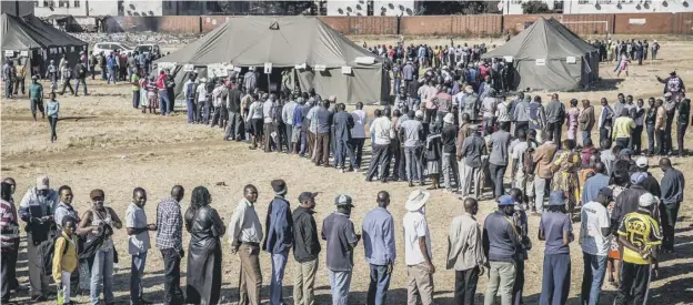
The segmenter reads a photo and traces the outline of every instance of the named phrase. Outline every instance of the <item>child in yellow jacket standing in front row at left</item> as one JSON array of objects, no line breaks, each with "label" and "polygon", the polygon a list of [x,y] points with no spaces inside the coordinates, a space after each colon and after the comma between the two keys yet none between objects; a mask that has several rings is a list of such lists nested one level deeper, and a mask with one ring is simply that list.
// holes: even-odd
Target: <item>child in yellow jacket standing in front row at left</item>
[{"label": "child in yellow jacket standing in front row at left", "polygon": [[72,305],[70,299],[70,277],[77,270],[77,220],[66,216],[60,223],[61,234],[56,238],[52,274],[58,286],[58,304]]}]

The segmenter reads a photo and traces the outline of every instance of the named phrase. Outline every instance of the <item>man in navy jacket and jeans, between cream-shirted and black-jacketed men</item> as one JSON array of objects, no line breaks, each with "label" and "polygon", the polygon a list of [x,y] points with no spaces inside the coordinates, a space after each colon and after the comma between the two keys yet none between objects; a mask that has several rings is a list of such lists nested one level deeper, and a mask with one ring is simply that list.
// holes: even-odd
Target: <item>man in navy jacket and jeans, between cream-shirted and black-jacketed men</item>
[{"label": "man in navy jacket and jeans, between cream-shirted and black-jacketed men", "polygon": [[270,304],[284,304],[282,299],[282,282],[289,250],[293,244],[293,218],[287,195],[287,182],[273,180],[271,182],[274,199],[268,207],[268,216],[264,223],[265,234],[262,250],[272,255],[272,278],[270,283]]}]

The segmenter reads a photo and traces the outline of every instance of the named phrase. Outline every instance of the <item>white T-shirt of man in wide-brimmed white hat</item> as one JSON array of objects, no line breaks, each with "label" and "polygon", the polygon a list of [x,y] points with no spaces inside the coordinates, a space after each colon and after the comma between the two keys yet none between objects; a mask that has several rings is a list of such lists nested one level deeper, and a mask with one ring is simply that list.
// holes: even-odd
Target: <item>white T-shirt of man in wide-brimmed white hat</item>
[{"label": "white T-shirt of man in wide-brimmed white hat", "polygon": [[433,260],[429,223],[421,211],[406,212],[402,220],[402,225],[404,226],[404,263],[408,266],[413,266],[425,262],[419,247],[419,237],[425,237],[429,258]]}]

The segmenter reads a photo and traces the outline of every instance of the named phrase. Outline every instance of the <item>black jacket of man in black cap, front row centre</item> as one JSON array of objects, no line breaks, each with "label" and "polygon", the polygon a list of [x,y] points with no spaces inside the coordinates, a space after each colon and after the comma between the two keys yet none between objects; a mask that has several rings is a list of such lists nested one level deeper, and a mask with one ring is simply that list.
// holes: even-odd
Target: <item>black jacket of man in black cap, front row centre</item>
[{"label": "black jacket of man in black cap, front row centre", "polygon": [[321,250],[313,213],[301,206],[293,210],[293,257],[299,263],[318,258]]}]

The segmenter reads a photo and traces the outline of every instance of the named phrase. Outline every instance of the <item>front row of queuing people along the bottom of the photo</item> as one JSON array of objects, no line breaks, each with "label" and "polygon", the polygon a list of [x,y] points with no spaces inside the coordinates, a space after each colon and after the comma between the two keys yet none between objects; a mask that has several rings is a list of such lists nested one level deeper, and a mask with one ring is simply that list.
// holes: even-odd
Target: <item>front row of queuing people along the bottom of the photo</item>
[{"label": "front row of queuing people along the bottom of the photo", "polygon": [[[666,157],[660,160],[664,172],[661,185],[647,172],[646,159],[636,162],[622,159],[611,174],[602,161],[593,161],[592,175],[581,189],[584,204],[580,221],[580,241],[584,257],[581,298],[584,304],[599,304],[606,274],[619,287],[615,304],[641,304],[647,298],[651,274],[656,275],[660,253],[674,251],[676,213],[683,200],[684,177]],[[376,207],[365,213],[361,234],[350,215],[356,205],[349,195],[334,199],[335,212],[324,217],[319,231],[314,220],[317,194],[303,192],[299,206],[291,211],[283,180],[271,182],[273,199],[263,224],[255,212],[258,189],[243,187],[243,197],[224,225],[211,206],[209,190],[192,191],[190,206],[182,213],[185,190],[175,185],[171,196],[157,206],[155,222],[150,222],[143,207],[147,191],[135,187],[125,211],[124,225],[118,213],[104,205],[106,193],[93,190],[92,206],[73,206],[70,186],[50,187],[48,176],[14,205],[16,183],[1,184],[2,302],[10,304],[11,291],[20,291],[16,278],[19,253],[19,222],[26,223],[31,301],[41,302],[54,294],[49,276],[58,288],[59,304],[74,304],[72,292],[90,296],[91,304],[113,304],[113,264],[120,256],[114,247],[113,231],[123,226],[131,255],[130,302],[151,304],[142,298],[142,276],[151,247],[150,233],[155,231],[155,246],[164,263],[164,304],[219,304],[222,282],[222,236],[229,236],[232,254],[239,256],[240,304],[260,304],[263,284],[259,255],[272,258],[269,286],[270,304],[284,304],[282,285],[288,257],[294,257],[294,304],[314,304],[314,281],[320,252],[327,252],[325,270],[330,279],[332,304],[348,304],[353,272],[353,250],[363,240],[365,262],[370,265],[368,304],[388,304],[386,293],[395,268],[395,222],[388,211],[390,194],[381,191]],[[654,194],[661,195],[656,197]],[[433,265],[431,233],[426,222],[430,193],[412,191],[404,203],[408,211],[401,225],[404,242],[408,304],[433,304],[436,272]],[[519,187],[498,197],[498,210],[480,225],[479,203],[463,200],[464,213],[455,216],[448,235],[445,268],[455,272],[455,304],[473,304],[476,283],[489,273],[484,304],[522,304],[524,261],[536,241],[532,241],[524,207],[525,194]],[[570,293],[570,244],[575,240],[573,221],[568,214],[565,192],[552,191],[542,211],[538,240],[544,242],[542,293],[539,304],[565,304]],[[84,209],[80,215],[78,209]],[[662,228],[660,228],[660,225]],[[182,230],[190,234],[187,251]],[[325,241],[324,250],[321,240]],[[50,252],[47,246],[51,246]],[[49,255],[47,257],[47,255]],[[188,255],[185,293],[180,287],[180,262]],[[46,267],[46,262],[49,262]],[[614,279],[615,275],[615,279]]]}]

